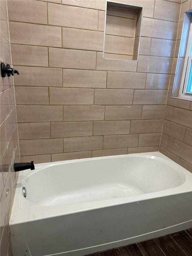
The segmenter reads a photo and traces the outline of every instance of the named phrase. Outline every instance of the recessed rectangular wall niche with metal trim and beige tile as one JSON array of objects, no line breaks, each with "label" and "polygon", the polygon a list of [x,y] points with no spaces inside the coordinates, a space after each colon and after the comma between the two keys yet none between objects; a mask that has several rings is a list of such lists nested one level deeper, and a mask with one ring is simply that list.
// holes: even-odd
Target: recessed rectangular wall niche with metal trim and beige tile
[{"label": "recessed rectangular wall niche with metal trim and beige tile", "polygon": [[103,59],[138,61],[143,7],[107,1]]}]

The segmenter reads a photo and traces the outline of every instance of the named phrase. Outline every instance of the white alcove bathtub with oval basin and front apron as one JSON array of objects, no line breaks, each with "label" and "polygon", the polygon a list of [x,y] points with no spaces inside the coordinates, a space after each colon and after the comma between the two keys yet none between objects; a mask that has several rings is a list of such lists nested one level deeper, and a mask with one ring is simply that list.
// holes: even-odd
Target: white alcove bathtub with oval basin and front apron
[{"label": "white alcove bathtub with oval basin and front apron", "polygon": [[17,183],[14,256],[82,256],[192,227],[192,174],[159,152],[36,164]]}]

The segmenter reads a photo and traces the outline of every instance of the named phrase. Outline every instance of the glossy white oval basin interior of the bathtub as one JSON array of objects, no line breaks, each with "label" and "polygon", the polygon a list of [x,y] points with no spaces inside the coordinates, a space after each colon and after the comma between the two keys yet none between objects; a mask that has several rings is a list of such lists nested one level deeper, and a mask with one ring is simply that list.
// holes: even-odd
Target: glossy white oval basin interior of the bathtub
[{"label": "glossy white oval basin interior of the bathtub", "polygon": [[[174,188],[184,173],[166,159],[122,156],[50,164],[27,176],[27,200],[41,206],[86,203]],[[167,165],[169,171],[167,171]],[[39,190],[34,190],[34,184]]]}]

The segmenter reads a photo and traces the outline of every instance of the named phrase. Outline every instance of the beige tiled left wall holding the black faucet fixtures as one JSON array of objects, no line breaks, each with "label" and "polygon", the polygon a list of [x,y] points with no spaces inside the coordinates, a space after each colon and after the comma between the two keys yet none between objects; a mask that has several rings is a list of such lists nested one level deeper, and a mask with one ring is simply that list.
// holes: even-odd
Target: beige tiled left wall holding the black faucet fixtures
[{"label": "beige tiled left wall holding the black faucet fixtures", "polygon": [[[18,1],[19,2],[19,1]],[[41,3],[40,3],[41,5]],[[12,65],[7,1],[0,1],[0,62]],[[19,162],[16,105],[13,77],[0,77],[0,254],[11,256],[9,218],[17,175],[13,163]]]}]

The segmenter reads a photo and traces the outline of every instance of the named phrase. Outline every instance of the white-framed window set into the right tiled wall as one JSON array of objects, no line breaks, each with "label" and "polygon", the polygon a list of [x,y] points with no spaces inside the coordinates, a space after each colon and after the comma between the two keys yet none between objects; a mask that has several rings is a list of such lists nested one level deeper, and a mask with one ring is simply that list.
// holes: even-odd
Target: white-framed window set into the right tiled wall
[{"label": "white-framed window set into the right tiled wall", "polygon": [[172,97],[192,101],[192,10],[184,15]]}]

